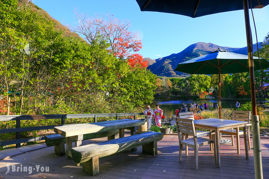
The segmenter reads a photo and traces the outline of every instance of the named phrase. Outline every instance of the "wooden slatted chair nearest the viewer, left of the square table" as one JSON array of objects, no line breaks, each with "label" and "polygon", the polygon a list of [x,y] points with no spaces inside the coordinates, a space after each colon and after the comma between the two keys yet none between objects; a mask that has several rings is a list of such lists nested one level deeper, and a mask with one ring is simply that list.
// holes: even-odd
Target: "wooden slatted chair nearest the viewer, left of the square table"
[{"label": "wooden slatted chair nearest the viewer, left of the square table", "polygon": [[[195,169],[198,169],[198,147],[207,145],[207,144],[214,144],[214,157],[215,157],[215,164],[217,164],[216,158],[216,146],[215,146],[215,134],[213,135],[213,140],[201,138],[203,136],[208,135],[200,134],[197,135],[193,120],[192,119],[184,119],[184,118],[176,118],[176,126],[178,132],[178,140],[179,140],[179,162],[182,161],[182,149],[183,145],[190,146],[194,148],[194,158],[195,158]],[[192,138],[187,138],[183,140],[181,133],[192,135]],[[213,133],[213,132],[212,132]]]}]

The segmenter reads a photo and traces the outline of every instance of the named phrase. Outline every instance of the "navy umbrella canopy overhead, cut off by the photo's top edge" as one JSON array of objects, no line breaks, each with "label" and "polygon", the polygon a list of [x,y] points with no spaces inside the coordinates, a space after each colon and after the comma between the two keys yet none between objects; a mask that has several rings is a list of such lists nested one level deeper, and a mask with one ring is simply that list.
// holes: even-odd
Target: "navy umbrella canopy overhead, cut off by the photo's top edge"
[{"label": "navy umbrella canopy overhead, cut off by the photo's top edge", "polygon": [[[243,10],[242,0],[136,0],[141,11],[179,14],[192,18],[227,11]],[[253,8],[262,8],[268,0],[252,0]],[[249,3],[250,6],[250,3]]]}]

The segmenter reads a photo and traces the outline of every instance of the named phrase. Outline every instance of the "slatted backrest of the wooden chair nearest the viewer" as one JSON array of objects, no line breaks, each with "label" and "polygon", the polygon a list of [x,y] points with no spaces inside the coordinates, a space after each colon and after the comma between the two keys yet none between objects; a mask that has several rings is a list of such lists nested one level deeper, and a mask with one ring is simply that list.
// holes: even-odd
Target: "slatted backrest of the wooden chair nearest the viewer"
[{"label": "slatted backrest of the wooden chair nearest the viewer", "polygon": [[194,128],[192,119],[176,118],[175,121],[176,121],[179,141],[182,141],[181,133],[196,136],[196,130]]}]

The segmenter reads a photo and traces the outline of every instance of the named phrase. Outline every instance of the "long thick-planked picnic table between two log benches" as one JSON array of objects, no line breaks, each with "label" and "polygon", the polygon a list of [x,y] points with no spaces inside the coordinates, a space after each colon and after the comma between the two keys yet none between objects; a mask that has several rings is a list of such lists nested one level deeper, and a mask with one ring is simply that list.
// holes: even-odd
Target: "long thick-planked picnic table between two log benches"
[{"label": "long thick-planked picnic table between two log benches", "polygon": [[[72,139],[75,140],[75,147],[77,147],[81,146],[84,134],[110,131],[115,129],[119,129],[119,132],[115,133],[115,135],[112,137],[108,137],[108,140],[121,138],[124,137],[124,129],[131,130],[131,135],[135,135],[137,127],[144,124],[145,121],[121,119],[114,121],[64,125],[54,127],[54,132],[66,137],[66,157],[67,159],[70,159],[72,157],[70,152],[72,148]],[[136,148],[133,150],[136,150]]]}]

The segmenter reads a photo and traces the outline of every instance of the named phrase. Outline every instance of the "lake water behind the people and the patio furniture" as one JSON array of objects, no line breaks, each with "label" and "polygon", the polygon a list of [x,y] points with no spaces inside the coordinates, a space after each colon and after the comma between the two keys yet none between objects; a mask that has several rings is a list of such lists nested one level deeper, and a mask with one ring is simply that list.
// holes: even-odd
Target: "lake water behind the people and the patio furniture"
[{"label": "lake water behind the people and the patio furniture", "polygon": [[[221,106],[222,108],[236,108],[236,101],[240,103],[240,105],[245,104],[248,102],[247,100],[221,100]],[[159,105],[160,108],[163,110],[163,115],[165,117],[165,120],[168,120],[168,118],[171,118],[169,115],[175,114],[175,110],[178,107],[182,106],[182,103],[187,104],[188,106],[194,102],[197,103],[207,103],[210,106],[215,107],[215,104],[218,103],[218,100],[178,100],[178,101],[156,101]],[[263,101],[257,101],[257,104],[262,103]],[[155,106],[151,107],[152,109],[155,109]]]}]

